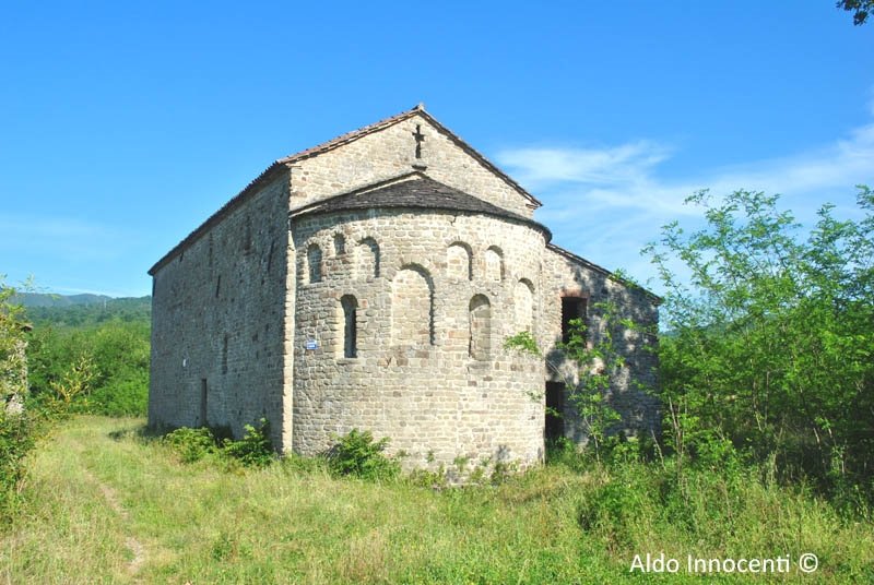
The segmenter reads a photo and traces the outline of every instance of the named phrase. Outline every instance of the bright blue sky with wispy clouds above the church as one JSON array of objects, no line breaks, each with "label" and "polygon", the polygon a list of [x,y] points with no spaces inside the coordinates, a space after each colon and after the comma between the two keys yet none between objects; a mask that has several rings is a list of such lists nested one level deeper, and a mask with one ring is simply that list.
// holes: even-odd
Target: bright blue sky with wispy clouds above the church
[{"label": "bright blue sky with wispy clouds above the church", "polygon": [[420,102],[639,280],[697,189],[874,186],[874,23],[830,0],[5,2],[0,56],[0,274],[61,294],[149,294],[274,159]]}]

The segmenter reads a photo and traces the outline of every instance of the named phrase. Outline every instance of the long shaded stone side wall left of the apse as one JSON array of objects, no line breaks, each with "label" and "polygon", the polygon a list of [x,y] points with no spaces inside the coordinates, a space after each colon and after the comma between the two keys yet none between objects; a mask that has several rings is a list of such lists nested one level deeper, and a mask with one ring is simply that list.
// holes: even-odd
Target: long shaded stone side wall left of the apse
[{"label": "long shaded stone side wall left of the apse", "polygon": [[265,417],[277,444],[291,431],[287,205],[287,179],[277,179],[154,274],[150,425],[227,426],[239,435]]}]

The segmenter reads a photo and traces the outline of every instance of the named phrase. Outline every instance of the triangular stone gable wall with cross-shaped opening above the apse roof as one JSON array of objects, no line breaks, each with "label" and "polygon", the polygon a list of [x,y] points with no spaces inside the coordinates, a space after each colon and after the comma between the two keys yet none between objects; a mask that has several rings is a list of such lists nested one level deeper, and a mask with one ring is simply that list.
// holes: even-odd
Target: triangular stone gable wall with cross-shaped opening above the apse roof
[{"label": "triangular stone gable wall with cross-shaped opening above the apse roof", "polygon": [[[415,157],[413,133],[425,136],[422,158]],[[492,170],[440,133],[424,117],[414,116],[328,153],[294,163],[292,208],[410,172],[426,165],[430,178],[523,217],[530,201]]]}]

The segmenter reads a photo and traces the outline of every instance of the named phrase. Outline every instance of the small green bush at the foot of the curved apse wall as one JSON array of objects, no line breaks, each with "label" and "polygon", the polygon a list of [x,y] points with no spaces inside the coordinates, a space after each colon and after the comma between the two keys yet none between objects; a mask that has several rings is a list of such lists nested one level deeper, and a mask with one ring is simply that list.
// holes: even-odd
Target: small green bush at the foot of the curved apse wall
[{"label": "small green bush at the foot of the curved apse wall", "polygon": [[352,429],[328,452],[328,467],[340,476],[392,479],[400,473],[400,465],[382,453],[388,444],[388,437],[374,441],[370,431]]}]

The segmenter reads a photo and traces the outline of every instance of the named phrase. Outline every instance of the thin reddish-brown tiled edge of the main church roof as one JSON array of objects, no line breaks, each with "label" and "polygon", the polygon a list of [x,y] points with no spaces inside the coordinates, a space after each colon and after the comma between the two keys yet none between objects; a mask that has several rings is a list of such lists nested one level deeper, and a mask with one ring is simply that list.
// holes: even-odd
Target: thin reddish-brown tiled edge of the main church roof
[{"label": "thin reddish-brown tiled edge of the main church roof", "polygon": [[317,156],[319,154],[327,153],[327,152],[332,151],[334,148],[338,148],[338,147],[340,147],[340,146],[342,146],[344,144],[349,144],[350,142],[354,142],[354,141],[361,139],[361,138],[364,138],[364,136],[366,136],[368,134],[371,134],[374,132],[382,130],[383,128],[388,128],[390,126],[393,126],[393,124],[395,124],[398,122],[401,122],[401,121],[406,120],[408,118],[412,118],[414,116],[422,116],[423,118],[428,120],[428,122],[430,122],[440,133],[442,133],[445,136],[447,136],[457,146],[459,146],[464,152],[466,152],[469,155],[471,155],[473,158],[479,160],[484,167],[489,169],[498,178],[504,180],[504,182],[506,182],[511,188],[513,188],[520,195],[525,198],[529,201],[529,205],[532,208],[536,208],[536,207],[540,207],[542,205],[542,203],[540,201],[538,201],[538,199],[534,198],[534,195],[532,195],[531,193],[525,191],[522,188],[522,186],[520,186],[518,182],[516,182],[513,179],[511,179],[506,172],[500,170],[498,167],[493,165],[485,156],[480,154],[470,144],[468,144],[466,142],[461,140],[461,138],[459,138],[457,134],[454,134],[448,128],[446,128],[444,124],[441,124],[440,122],[435,120],[427,111],[425,111],[424,105],[418,104],[414,108],[409,109],[406,111],[402,111],[401,114],[398,114],[397,116],[392,116],[390,118],[386,118],[385,120],[380,120],[380,121],[378,121],[376,123],[373,123],[373,124],[369,124],[369,126],[365,126],[364,128],[359,128],[358,130],[354,130],[352,132],[347,132],[345,134],[336,136],[335,139],[329,140],[328,142],[323,142],[323,143],[321,143],[321,144],[319,144],[317,146],[312,146],[311,148],[307,148],[305,151],[300,151],[298,153],[288,155],[286,157],[277,159],[277,160],[274,160],[272,165],[270,165],[268,168],[265,168],[258,177],[252,179],[252,181],[249,182],[249,184],[247,184],[243,189],[243,191],[240,191],[234,198],[232,198],[231,201],[228,201],[227,203],[222,205],[222,207],[217,212],[215,212],[210,217],[208,217],[206,220],[203,222],[197,229],[194,229],[191,234],[189,234],[182,241],[180,241],[179,243],[174,246],[173,249],[169,252],[167,252],[166,254],[164,254],[161,258],[161,260],[155,262],[154,266],[149,268],[149,274],[154,276],[155,272],[157,272],[157,270],[161,266],[163,266],[164,264],[169,262],[170,259],[174,258],[178,252],[180,252],[181,250],[187,248],[191,242],[193,242],[201,235],[203,235],[210,227],[212,227],[213,225],[217,224],[222,218],[224,218],[225,215],[231,213],[239,204],[241,204],[244,201],[246,201],[246,199],[248,199],[249,195],[253,194],[259,187],[263,186],[270,179],[274,178],[276,176],[277,171],[280,171],[282,169],[287,169],[288,167],[293,166],[295,163],[297,163],[299,160],[304,160],[305,158],[310,158],[312,156]]}]

